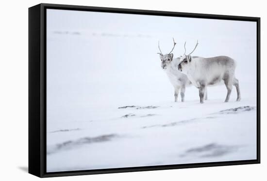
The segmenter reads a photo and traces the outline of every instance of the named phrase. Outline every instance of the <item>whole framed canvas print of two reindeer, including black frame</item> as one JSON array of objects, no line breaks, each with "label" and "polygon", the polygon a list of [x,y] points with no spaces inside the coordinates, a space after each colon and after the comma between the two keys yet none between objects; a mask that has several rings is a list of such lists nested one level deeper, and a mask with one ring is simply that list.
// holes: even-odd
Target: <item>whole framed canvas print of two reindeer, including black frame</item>
[{"label": "whole framed canvas print of two reindeer, including black frame", "polygon": [[260,18],[29,8],[29,173],[260,163]]}]

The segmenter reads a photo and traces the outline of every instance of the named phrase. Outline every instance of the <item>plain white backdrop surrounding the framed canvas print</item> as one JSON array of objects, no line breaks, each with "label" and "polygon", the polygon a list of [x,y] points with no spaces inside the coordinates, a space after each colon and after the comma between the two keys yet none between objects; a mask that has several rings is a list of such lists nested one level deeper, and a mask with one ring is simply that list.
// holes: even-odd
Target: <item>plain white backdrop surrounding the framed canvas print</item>
[{"label": "plain white backdrop surrounding the framed canvas print", "polygon": [[[266,28],[267,17],[264,4],[259,0],[234,2],[224,0],[187,0],[164,2],[134,0],[46,0],[46,1],[10,1],[2,4],[0,11],[0,141],[2,149],[0,154],[1,180],[27,179],[35,180],[36,177],[26,173],[28,165],[28,7],[40,2],[76,4],[87,6],[119,7],[132,9],[148,9],[159,11],[176,11],[207,13],[221,15],[260,16],[262,18],[262,60],[266,58]],[[167,43],[168,44],[168,43]],[[265,61],[262,66],[265,67]],[[262,69],[264,71],[264,69]],[[267,77],[262,71],[262,80]],[[262,81],[262,92],[266,83]],[[265,107],[266,96],[262,95],[262,111]],[[265,113],[262,112],[262,130],[266,128]],[[106,174],[94,176],[79,176],[58,178],[58,180],[261,180],[266,170],[265,142],[266,133],[262,132],[262,164],[247,166],[221,166],[208,168],[163,170],[150,172]],[[48,180],[55,180],[51,178]]]}]

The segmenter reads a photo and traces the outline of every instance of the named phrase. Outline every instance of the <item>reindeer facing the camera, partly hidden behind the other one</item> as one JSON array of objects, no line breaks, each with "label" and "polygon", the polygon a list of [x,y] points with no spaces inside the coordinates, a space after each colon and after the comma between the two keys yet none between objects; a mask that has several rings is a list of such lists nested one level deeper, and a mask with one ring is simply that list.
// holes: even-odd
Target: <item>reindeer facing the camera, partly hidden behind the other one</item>
[{"label": "reindeer facing the camera, partly hidden behind the other one", "polygon": [[181,98],[182,102],[184,102],[184,92],[185,92],[185,86],[190,84],[190,81],[186,77],[186,75],[181,74],[177,70],[177,65],[179,64],[180,58],[173,59],[173,54],[171,53],[176,45],[174,38],[173,39],[173,47],[171,51],[168,54],[163,55],[159,42],[158,42],[158,47],[159,47],[159,57],[161,59],[161,67],[162,69],[166,72],[170,83],[174,87],[174,102],[177,102],[178,100],[178,94],[181,89]]}]

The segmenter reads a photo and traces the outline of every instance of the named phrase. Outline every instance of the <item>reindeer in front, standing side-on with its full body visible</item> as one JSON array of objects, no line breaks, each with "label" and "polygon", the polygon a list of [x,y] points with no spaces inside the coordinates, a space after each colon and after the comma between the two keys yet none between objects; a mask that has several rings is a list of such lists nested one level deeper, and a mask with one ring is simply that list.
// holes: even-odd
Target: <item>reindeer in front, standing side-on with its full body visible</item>
[{"label": "reindeer in front, standing side-on with its full body visible", "polygon": [[187,75],[191,83],[199,89],[200,103],[204,103],[203,99],[207,86],[217,84],[221,80],[224,81],[227,89],[225,102],[229,101],[233,85],[237,91],[236,101],[240,101],[239,83],[234,76],[236,67],[234,59],[226,56],[212,58],[191,57],[190,55],[195,51],[199,42],[197,41],[195,48],[188,55],[185,54],[185,44],[186,42],[184,43],[184,55],[180,58],[178,70]]}]

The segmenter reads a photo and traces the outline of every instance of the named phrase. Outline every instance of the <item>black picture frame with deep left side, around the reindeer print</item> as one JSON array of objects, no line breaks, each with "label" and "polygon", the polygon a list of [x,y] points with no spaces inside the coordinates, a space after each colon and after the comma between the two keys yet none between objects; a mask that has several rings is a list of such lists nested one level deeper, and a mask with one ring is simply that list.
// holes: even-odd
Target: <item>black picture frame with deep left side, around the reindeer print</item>
[{"label": "black picture frame with deep left side, around the reindeer print", "polygon": [[[140,166],[96,170],[46,172],[46,10],[79,10],[139,15],[160,15],[224,20],[254,21],[257,23],[257,159],[165,166]],[[58,177],[147,170],[164,170],[206,166],[231,166],[260,163],[260,17],[207,15],[150,10],[89,7],[41,3],[29,8],[29,173],[37,177]]]}]

